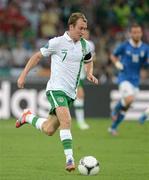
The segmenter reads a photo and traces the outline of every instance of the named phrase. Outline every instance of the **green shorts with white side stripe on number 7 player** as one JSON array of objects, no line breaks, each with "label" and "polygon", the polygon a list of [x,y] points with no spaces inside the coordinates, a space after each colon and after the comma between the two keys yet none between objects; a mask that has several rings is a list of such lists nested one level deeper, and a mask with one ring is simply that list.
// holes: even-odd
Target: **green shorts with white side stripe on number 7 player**
[{"label": "green shorts with white side stripe on number 7 player", "polygon": [[49,114],[56,114],[55,109],[59,106],[70,108],[74,101],[63,91],[47,91],[46,95],[51,106]]}]

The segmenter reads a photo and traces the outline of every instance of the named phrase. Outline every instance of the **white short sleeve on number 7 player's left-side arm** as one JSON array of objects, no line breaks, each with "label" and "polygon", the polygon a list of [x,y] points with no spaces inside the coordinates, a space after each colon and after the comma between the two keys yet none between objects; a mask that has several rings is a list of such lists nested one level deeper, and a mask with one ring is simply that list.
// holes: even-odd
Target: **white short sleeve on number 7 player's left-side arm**
[{"label": "white short sleeve on number 7 player's left-side arm", "polygon": [[58,38],[50,39],[45,46],[40,48],[40,51],[44,57],[48,57],[56,53],[57,45],[58,45]]}]

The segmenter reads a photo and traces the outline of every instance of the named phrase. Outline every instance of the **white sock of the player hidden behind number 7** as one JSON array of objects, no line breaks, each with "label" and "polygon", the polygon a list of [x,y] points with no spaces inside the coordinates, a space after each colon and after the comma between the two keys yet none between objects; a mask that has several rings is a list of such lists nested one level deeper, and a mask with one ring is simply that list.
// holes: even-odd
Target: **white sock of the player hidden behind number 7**
[{"label": "white sock of the player hidden behind number 7", "polygon": [[84,118],[84,100],[83,99],[76,99],[74,101],[75,107],[75,116],[78,123],[82,123],[85,121]]}]

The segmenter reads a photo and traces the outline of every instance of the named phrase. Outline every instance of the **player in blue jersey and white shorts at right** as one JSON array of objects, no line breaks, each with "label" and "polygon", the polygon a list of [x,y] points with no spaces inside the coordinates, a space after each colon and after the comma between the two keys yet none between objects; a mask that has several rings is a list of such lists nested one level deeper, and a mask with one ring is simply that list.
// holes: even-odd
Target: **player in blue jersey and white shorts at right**
[{"label": "player in blue jersey and white shorts at right", "polygon": [[111,55],[111,60],[119,70],[118,84],[121,99],[114,107],[111,116],[113,123],[108,131],[117,135],[117,128],[123,121],[127,110],[139,91],[140,69],[148,64],[149,47],[141,41],[142,28],[138,24],[130,27],[130,39],[117,47]]}]

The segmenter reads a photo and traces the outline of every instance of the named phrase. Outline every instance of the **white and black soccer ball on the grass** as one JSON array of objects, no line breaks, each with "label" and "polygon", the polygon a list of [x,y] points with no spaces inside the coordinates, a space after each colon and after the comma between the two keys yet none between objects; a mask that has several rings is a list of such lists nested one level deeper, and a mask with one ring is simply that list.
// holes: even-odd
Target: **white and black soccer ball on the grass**
[{"label": "white and black soccer ball on the grass", "polygon": [[100,170],[99,162],[93,156],[85,156],[80,159],[78,170],[82,175],[96,175]]}]

